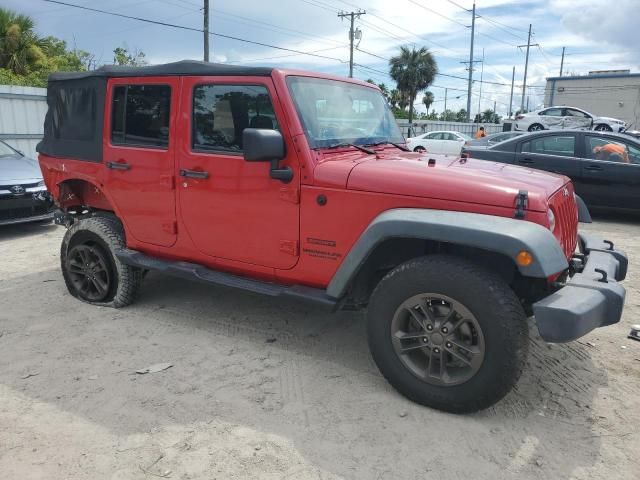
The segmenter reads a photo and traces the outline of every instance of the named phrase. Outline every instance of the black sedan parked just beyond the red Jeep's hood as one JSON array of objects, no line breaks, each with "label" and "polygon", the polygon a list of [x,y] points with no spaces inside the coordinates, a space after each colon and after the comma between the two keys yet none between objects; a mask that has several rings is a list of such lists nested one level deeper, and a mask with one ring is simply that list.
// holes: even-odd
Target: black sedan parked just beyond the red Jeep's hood
[{"label": "black sedan parked just beyond the red Jeep's hood", "polygon": [[536,132],[463,156],[522,165],[570,177],[590,206],[640,210],[640,141],[582,130]]}]

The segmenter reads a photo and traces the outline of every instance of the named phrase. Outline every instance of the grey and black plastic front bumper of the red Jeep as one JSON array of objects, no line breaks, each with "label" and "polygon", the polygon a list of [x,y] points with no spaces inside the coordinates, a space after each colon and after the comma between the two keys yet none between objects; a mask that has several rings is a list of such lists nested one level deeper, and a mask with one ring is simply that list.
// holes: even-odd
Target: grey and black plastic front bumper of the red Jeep
[{"label": "grey and black plastic front bumper of the red Jeep", "polygon": [[627,275],[627,256],[596,236],[579,238],[581,254],[574,258],[578,273],[533,304],[538,331],[547,342],[570,342],[622,316],[625,289],[618,282]]}]

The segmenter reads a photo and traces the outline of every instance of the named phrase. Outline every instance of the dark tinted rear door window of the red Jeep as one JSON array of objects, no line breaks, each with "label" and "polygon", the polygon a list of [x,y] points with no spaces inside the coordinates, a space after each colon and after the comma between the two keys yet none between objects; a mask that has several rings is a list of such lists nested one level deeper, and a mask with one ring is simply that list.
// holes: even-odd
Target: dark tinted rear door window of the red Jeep
[{"label": "dark tinted rear door window of the red Jeep", "polygon": [[169,145],[171,87],[122,85],[113,89],[111,143],[142,147]]}]

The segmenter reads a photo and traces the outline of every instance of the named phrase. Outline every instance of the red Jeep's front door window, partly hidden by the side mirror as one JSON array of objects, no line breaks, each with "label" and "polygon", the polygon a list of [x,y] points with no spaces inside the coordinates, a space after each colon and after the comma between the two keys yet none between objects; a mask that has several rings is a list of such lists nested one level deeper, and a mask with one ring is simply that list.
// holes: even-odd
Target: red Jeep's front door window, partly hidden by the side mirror
[{"label": "red Jeep's front door window, partly hidden by the side mirror", "polygon": [[193,91],[191,147],[242,152],[245,128],[279,130],[269,92],[262,85],[198,85]]}]

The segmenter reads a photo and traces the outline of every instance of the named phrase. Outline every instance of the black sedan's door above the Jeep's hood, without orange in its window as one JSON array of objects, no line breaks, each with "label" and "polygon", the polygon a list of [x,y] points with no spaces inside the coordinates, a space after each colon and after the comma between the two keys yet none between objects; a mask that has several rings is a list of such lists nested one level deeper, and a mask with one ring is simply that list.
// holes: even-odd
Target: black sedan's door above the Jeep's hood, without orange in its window
[{"label": "black sedan's door above the Jeep's hood, without orange in its window", "polygon": [[566,175],[580,176],[581,160],[574,133],[545,134],[518,143],[516,165]]}]

